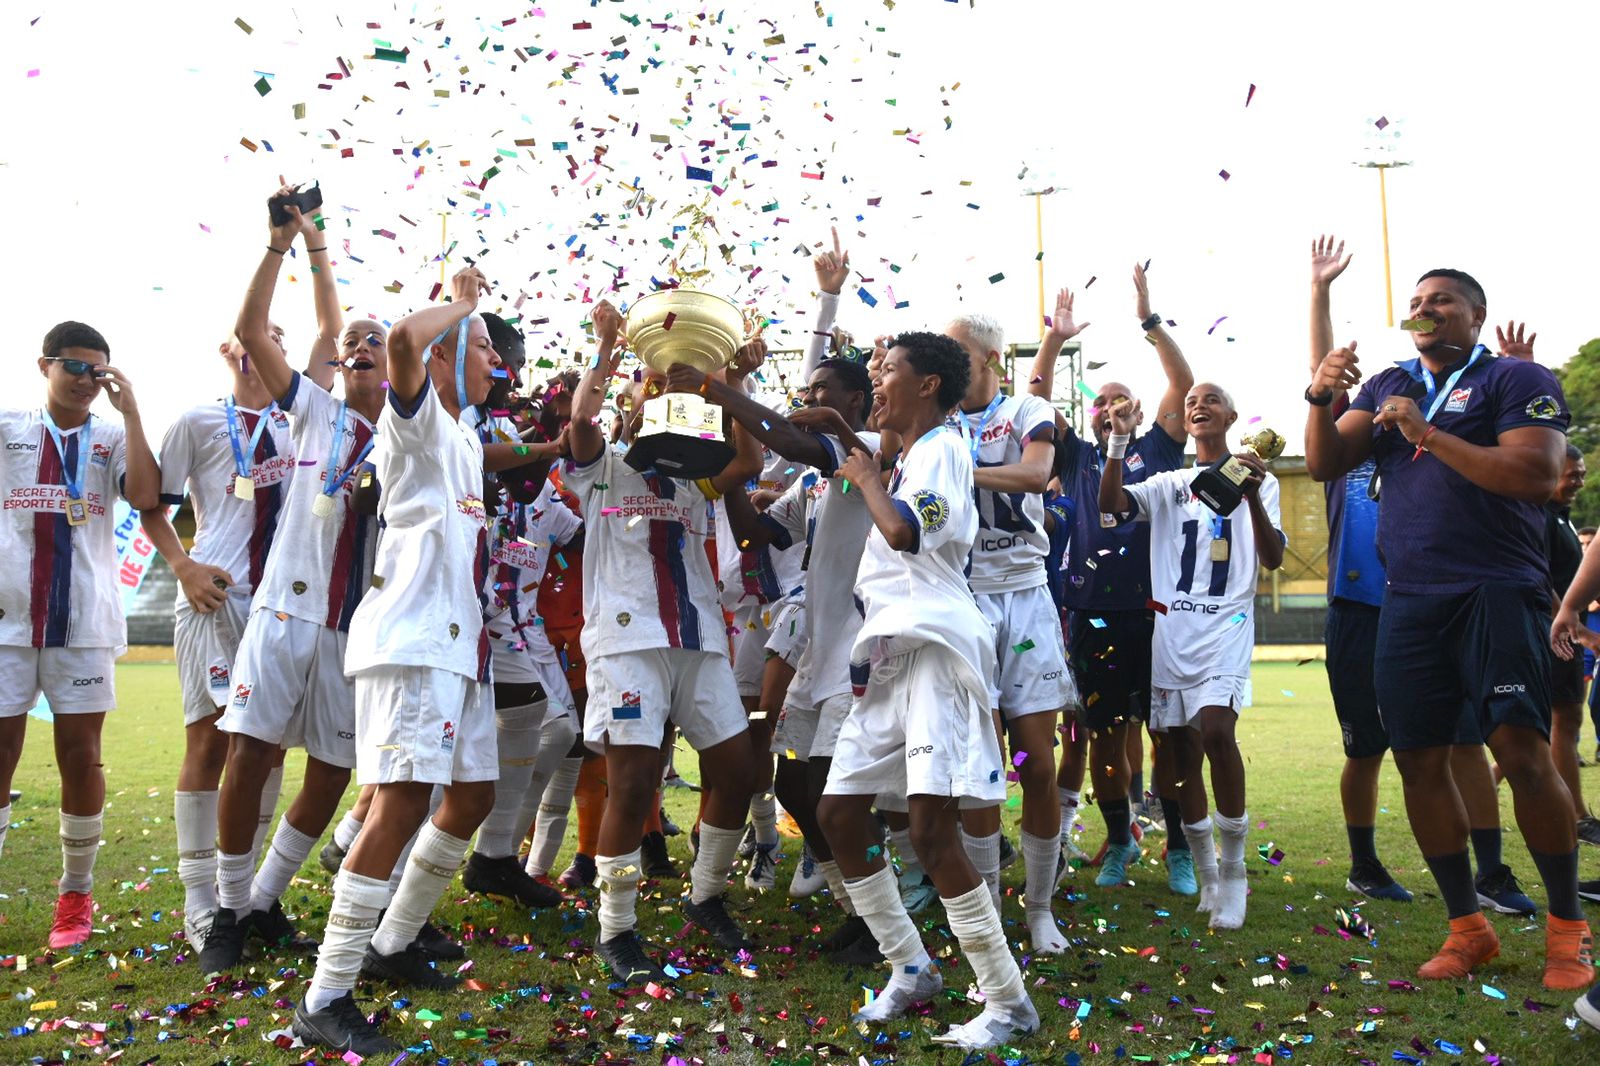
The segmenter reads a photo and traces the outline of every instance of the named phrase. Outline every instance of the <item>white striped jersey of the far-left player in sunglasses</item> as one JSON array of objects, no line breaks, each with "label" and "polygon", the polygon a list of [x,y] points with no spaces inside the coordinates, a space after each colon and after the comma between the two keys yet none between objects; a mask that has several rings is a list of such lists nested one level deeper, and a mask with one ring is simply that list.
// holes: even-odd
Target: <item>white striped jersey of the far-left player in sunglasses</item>
[{"label": "white striped jersey of the far-left player in sunglasses", "polygon": [[[83,426],[62,431],[58,450],[42,410],[0,410],[0,645],[125,647],[128,626],[112,536],[114,503],[128,472],[122,423],[91,415]],[[78,471],[88,522],[72,525],[67,482],[78,482]],[[138,573],[130,583],[138,584]]]}]

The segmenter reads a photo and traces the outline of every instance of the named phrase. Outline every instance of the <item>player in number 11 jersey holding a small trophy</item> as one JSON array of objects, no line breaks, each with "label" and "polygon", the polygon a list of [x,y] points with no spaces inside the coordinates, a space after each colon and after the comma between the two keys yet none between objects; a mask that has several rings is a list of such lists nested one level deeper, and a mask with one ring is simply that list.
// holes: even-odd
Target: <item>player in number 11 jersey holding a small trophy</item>
[{"label": "player in number 11 jersey holding a small trophy", "polygon": [[[1112,435],[1106,458],[1123,459],[1139,424],[1139,403],[1110,410]],[[1211,763],[1216,828],[1205,792],[1184,789],[1184,837],[1200,880],[1200,911],[1211,912],[1213,928],[1245,924],[1245,760],[1235,723],[1250,706],[1250,653],[1256,643],[1253,608],[1256,567],[1283,565],[1283,528],[1278,517],[1278,480],[1253,453],[1234,461],[1248,467],[1242,485],[1245,506],[1230,515],[1211,512],[1192,490],[1200,469],[1227,458],[1227,431],[1238,421],[1232,397],[1208,383],[1184,397],[1184,429],[1195,440],[1195,469],[1166,471],[1138,485],[1123,485],[1122,463],[1107,463],[1101,475],[1099,509],[1131,514],[1150,523],[1154,595],[1165,602],[1155,619],[1150,648],[1150,730],[1165,733],[1173,773],[1197,781],[1202,757]],[[1198,795],[1197,795],[1198,792]],[[1168,823],[1171,824],[1171,823]],[[1176,834],[1168,832],[1168,837]]]}]

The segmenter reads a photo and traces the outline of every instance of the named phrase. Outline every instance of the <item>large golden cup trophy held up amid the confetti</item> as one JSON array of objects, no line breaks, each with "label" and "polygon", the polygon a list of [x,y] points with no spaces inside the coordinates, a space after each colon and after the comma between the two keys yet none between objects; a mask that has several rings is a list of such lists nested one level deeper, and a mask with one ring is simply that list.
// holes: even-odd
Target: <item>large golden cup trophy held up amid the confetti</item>
[{"label": "large golden cup trophy held up amid the confetti", "polygon": [[[710,375],[728,367],[744,343],[744,315],[722,296],[664,288],[629,309],[627,343],[642,363],[659,373],[688,363]],[[645,400],[643,421],[626,456],[635,471],[654,467],[686,480],[720,474],[731,458],[722,408],[694,392]]]}]

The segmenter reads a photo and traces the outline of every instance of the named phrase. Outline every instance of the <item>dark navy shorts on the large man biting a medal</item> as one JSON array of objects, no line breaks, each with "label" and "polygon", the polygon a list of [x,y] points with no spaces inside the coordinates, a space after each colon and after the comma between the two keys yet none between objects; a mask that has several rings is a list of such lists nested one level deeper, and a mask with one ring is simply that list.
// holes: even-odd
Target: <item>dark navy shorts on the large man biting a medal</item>
[{"label": "dark navy shorts on the large man biting a medal", "polygon": [[1550,733],[1550,599],[1514,584],[1454,595],[1390,591],[1373,679],[1395,751],[1486,741],[1501,725]]}]

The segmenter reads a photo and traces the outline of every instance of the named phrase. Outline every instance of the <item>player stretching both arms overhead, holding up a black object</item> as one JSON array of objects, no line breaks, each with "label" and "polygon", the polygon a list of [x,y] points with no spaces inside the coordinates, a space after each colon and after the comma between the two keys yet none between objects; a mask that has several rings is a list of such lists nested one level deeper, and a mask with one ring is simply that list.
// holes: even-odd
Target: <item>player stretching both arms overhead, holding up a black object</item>
[{"label": "player stretching both arms overhead, holding up a black object", "polygon": [[[234,328],[251,371],[290,418],[299,466],[278,515],[277,551],[262,568],[238,642],[232,696],[218,722],[229,733],[229,751],[218,804],[218,909],[200,951],[206,973],[238,965],[251,933],[269,944],[310,946],[278,896],[333,818],[355,765],[344,643],[350,615],[371,583],[378,523],[350,507],[350,493],[384,403],[387,338],[371,320],[339,331],[342,402],[318,381],[320,370],[307,376],[290,368],[267,319],[272,293],[294,240],[323,237],[298,208],[288,214],[288,222],[269,229]],[[304,783],[258,871],[253,847],[262,792],[280,749],[296,744],[306,747]]]}]

